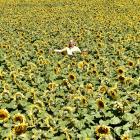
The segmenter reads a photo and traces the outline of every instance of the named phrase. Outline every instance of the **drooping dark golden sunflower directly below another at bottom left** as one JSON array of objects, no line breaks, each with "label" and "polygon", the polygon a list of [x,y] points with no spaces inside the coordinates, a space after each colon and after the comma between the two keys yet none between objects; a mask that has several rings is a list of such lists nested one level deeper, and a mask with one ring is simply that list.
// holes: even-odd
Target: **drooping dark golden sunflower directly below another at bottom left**
[{"label": "drooping dark golden sunflower directly below another at bottom left", "polygon": [[25,124],[25,123],[20,123],[18,125],[15,125],[14,128],[13,128],[13,132],[16,135],[20,135],[22,133],[25,133],[26,130],[27,130],[27,124]]}]

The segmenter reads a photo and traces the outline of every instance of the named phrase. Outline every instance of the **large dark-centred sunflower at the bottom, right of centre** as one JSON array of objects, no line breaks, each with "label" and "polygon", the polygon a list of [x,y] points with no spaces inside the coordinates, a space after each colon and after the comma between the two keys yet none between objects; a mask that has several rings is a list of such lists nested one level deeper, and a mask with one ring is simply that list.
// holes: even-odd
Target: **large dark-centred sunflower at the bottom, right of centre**
[{"label": "large dark-centred sunflower at the bottom, right of centre", "polygon": [[105,125],[98,125],[95,129],[96,135],[98,137],[101,137],[102,135],[109,135],[110,134],[110,128]]}]

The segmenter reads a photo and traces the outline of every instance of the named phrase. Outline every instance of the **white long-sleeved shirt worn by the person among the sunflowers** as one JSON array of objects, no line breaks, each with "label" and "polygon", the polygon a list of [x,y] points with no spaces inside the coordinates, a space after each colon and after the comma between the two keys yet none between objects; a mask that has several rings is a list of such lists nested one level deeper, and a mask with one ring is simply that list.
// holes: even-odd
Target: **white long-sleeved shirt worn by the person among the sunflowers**
[{"label": "white long-sleeved shirt worn by the person among the sunflowers", "polygon": [[73,53],[74,52],[80,52],[81,53],[81,50],[78,48],[78,47],[76,47],[76,46],[74,46],[74,47],[72,47],[72,48],[69,48],[69,47],[66,47],[66,48],[64,48],[64,49],[62,49],[62,50],[54,50],[55,52],[63,52],[63,51],[67,51],[67,54],[68,55],[73,55]]}]

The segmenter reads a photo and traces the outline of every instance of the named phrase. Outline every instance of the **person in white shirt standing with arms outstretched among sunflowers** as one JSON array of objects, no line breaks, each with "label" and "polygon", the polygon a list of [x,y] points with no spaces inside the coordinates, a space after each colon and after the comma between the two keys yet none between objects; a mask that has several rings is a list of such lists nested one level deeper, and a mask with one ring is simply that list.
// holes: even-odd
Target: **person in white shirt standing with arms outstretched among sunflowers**
[{"label": "person in white shirt standing with arms outstretched among sunflowers", "polygon": [[76,43],[74,42],[73,39],[70,40],[68,47],[65,47],[64,49],[61,50],[55,49],[54,51],[59,53],[66,51],[68,55],[73,55],[73,53],[75,52],[81,53],[81,50],[76,46]]}]

